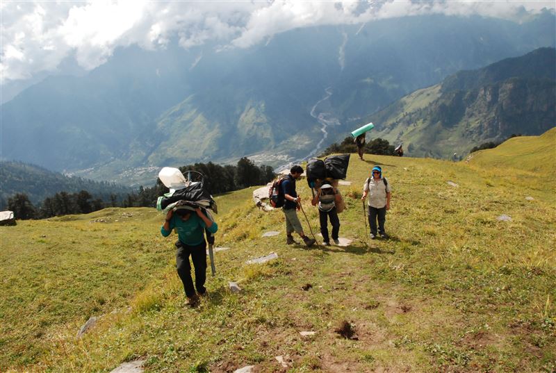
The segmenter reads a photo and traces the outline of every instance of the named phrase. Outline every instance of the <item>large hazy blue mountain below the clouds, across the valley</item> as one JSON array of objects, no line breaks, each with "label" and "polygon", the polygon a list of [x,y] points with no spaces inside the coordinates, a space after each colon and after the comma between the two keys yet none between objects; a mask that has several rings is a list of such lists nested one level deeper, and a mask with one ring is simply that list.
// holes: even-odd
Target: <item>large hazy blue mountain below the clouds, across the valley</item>
[{"label": "large hazy blue mountain below the clouds, across the valley", "polygon": [[316,114],[341,125],[322,147],[458,69],[554,45],[554,24],[439,15],[296,29],[250,49],[119,49],[87,76],[47,78],[3,104],[2,156],[98,179],[247,154],[283,163],[322,140],[311,109],[325,89]]}]

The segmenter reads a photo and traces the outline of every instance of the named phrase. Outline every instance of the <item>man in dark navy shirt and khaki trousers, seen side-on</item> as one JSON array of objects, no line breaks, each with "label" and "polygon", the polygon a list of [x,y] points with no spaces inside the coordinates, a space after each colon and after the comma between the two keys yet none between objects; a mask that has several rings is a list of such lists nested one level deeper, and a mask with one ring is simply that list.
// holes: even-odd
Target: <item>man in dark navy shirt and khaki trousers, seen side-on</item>
[{"label": "man in dark navy shirt and khaki trousers, seen side-on", "polygon": [[297,217],[297,210],[301,208],[301,199],[295,191],[295,181],[301,177],[301,174],[303,174],[303,169],[300,165],[291,167],[290,174],[280,185],[286,199],[282,208],[284,217],[286,217],[286,244],[297,244],[292,236],[292,233],[295,231],[295,233],[300,235],[306,246],[311,247],[315,244],[316,240],[307,237],[303,233],[300,219]]}]

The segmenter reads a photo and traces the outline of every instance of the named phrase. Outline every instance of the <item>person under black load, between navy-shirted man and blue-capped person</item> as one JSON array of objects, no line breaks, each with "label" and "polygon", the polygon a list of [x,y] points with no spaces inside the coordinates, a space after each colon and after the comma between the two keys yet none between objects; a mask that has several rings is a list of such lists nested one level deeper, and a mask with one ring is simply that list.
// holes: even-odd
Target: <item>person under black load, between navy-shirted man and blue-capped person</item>
[{"label": "person under black load, between navy-shirted man and blue-capped person", "polygon": [[340,194],[330,184],[324,184],[319,189],[311,204],[316,206],[318,204],[318,217],[320,220],[320,234],[322,234],[323,244],[330,246],[330,238],[328,235],[328,222],[332,225],[332,240],[335,244],[339,244],[338,240],[340,233],[340,219],[336,211],[336,201],[341,199]]}]

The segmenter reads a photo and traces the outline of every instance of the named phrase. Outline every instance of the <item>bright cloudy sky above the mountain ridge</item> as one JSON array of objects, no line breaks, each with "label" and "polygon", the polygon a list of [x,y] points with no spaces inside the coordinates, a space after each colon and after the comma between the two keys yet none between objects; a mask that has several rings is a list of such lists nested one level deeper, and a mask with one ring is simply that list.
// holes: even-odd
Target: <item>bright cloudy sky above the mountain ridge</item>
[{"label": "bright cloudy sky above the mountain ridge", "polygon": [[84,69],[116,47],[183,48],[216,42],[248,48],[292,28],[363,24],[443,13],[518,19],[555,9],[555,1],[10,1],[1,0],[0,82],[28,79],[75,58]]}]

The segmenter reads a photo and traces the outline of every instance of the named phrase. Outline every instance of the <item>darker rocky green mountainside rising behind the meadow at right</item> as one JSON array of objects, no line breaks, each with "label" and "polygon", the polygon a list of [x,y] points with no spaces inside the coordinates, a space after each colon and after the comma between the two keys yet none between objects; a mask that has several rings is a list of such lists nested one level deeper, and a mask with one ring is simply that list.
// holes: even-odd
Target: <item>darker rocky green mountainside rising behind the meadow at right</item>
[{"label": "darker rocky green mountainside rising behind the meadow at right", "polygon": [[458,72],[368,117],[373,137],[404,142],[409,156],[466,154],[512,133],[556,124],[556,50],[537,49],[483,69]]}]

